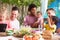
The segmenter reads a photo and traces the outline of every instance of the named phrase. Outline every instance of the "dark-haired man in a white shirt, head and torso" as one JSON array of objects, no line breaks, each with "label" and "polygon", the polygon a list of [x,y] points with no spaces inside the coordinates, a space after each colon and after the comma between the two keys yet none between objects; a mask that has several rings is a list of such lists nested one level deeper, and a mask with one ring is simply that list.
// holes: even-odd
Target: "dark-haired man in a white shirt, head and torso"
[{"label": "dark-haired man in a white shirt, head and torso", "polygon": [[14,30],[20,29],[20,25],[19,25],[19,21],[17,20],[17,16],[18,16],[18,8],[13,7],[12,11],[11,11],[11,15],[10,15],[10,24]]}]

